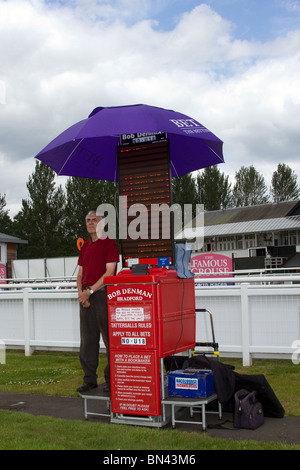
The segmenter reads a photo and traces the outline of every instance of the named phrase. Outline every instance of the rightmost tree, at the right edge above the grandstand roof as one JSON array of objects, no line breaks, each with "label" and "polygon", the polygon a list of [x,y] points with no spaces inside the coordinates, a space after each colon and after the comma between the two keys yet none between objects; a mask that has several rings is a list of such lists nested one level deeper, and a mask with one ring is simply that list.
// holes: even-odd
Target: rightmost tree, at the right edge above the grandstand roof
[{"label": "rightmost tree, at the right edge above the grandstand roof", "polygon": [[300,190],[297,175],[285,163],[279,163],[272,176],[270,193],[274,202],[298,199]]}]

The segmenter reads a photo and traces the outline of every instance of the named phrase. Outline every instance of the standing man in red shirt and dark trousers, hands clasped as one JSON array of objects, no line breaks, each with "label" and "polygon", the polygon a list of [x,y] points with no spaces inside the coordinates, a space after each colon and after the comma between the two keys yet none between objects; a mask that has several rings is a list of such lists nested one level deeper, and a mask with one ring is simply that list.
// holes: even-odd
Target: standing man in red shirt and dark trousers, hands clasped
[{"label": "standing man in red shirt and dark trousers, hands clasped", "polygon": [[86,216],[86,227],[90,238],[82,246],[78,259],[79,359],[84,372],[83,384],[77,389],[80,393],[97,387],[100,334],[108,358],[108,364],[104,369],[106,381],[104,391],[110,390],[107,299],[104,278],[116,274],[119,250],[116,241],[104,234],[102,220],[103,216],[96,211],[90,211]]}]

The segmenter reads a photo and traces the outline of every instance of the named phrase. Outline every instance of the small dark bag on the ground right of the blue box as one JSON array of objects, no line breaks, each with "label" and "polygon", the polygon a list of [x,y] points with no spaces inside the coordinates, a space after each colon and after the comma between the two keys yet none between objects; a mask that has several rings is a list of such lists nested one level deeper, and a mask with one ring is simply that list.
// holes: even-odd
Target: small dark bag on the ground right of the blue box
[{"label": "small dark bag on the ground right of the blue box", "polygon": [[239,390],[234,394],[234,427],[257,429],[264,424],[262,404],[255,391]]}]

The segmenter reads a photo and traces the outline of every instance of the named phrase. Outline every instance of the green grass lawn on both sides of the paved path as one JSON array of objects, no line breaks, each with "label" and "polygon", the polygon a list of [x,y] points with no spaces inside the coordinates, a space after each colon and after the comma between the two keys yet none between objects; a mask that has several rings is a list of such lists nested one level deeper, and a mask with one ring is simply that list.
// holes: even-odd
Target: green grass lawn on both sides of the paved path
[{"label": "green grass lawn on both sides of the paved path", "polygon": [[[100,355],[99,370],[105,356]],[[300,416],[299,366],[291,361],[255,360],[243,368],[240,360],[226,360],[246,374],[264,374],[287,415]],[[99,377],[99,382],[104,381]],[[0,364],[0,391],[77,396],[82,370],[77,353],[7,351]],[[67,421],[27,413],[0,410],[0,450],[281,450],[297,449],[281,443],[231,441],[205,433],[113,425],[102,422]]]}]

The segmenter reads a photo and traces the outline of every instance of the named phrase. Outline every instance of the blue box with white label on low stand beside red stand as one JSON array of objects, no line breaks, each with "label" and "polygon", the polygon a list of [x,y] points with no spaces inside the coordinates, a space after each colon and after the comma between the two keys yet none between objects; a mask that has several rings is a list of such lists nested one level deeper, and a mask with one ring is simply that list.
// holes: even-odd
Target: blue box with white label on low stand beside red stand
[{"label": "blue box with white label on low stand beside red stand", "polygon": [[168,375],[169,396],[181,398],[207,398],[214,393],[211,370],[175,370]]}]

